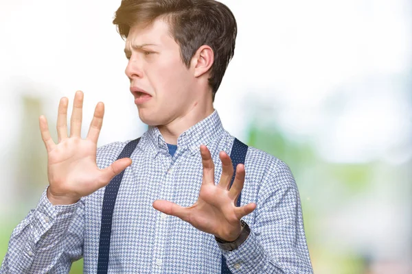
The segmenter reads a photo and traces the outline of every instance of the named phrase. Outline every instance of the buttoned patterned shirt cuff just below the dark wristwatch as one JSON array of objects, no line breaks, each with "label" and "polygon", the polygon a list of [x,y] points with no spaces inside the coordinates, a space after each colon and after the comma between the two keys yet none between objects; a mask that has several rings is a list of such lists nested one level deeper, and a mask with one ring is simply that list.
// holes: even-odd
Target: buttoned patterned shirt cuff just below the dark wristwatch
[{"label": "buttoned patterned shirt cuff just below the dark wristwatch", "polygon": [[231,273],[265,273],[267,269],[266,253],[259,244],[253,229],[249,237],[233,251],[220,249],[226,258]]}]

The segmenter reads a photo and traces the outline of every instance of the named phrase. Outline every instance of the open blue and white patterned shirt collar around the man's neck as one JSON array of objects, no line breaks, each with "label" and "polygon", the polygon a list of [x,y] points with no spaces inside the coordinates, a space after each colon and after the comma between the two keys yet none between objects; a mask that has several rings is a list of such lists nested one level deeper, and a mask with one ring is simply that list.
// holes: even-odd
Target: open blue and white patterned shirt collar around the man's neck
[{"label": "open blue and white patterned shirt collar around the man's neck", "polygon": [[[194,155],[200,151],[202,144],[209,145],[212,140],[224,132],[225,129],[220,121],[220,116],[217,110],[214,110],[212,114],[187,129],[177,138],[177,148],[179,150],[188,149],[190,155]],[[150,153],[150,158],[155,158],[161,151],[168,153],[168,145],[157,126],[150,125],[148,127],[148,131],[141,136],[141,143],[149,145],[148,153]]]}]

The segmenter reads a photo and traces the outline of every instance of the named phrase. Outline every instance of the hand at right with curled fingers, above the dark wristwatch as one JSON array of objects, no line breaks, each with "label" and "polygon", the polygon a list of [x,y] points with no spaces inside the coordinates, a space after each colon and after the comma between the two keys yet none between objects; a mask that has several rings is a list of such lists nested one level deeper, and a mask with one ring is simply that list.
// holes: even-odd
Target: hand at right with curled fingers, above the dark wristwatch
[{"label": "hand at right with curled fingers, above the dark wristwatch", "polygon": [[216,186],[214,183],[214,162],[205,145],[201,145],[201,155],[203,182],[196,203],[188,208],[183,208],[170,201],[157,200],[153,203],[153,207],[165,214],[177,216],[197,229],[214,234],[222,240],[236,240],[241,230],[240,219],[256,208],[255,203],[241,207],[236,206],[244,183],[244,165],[238,164],[236,166],[235,180],[229,190],[233,176],[233,165],[229,155],[225,151],[219,153],[222,161],[222,176]]}]

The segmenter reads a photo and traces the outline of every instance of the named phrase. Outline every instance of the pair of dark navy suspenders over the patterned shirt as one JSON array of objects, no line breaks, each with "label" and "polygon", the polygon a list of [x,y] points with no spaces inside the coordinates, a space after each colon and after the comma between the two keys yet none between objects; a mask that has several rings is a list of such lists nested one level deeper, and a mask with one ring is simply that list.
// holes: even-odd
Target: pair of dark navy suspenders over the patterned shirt
[{"label": "pair of dark navy suspenders over the patterned shirt", "polygon": [[[132,140],[126,144],[126,147],[122,150],[117,160],[122,158],[130,158],[133,151],[136,149],[140,138]],[[233,147],[231,149],[230,158],[233,164],[233,176],[231,178],[230,186],[232,186],[236,175],[236,166],[238,164],[244,164],[244,159],[246,158],[247,145],[240,142],[237,138],[233,142]],[[110,239],[111,239],[111,225],[113,220],[113,210],[115,208],[115,202],[117,197],[117,192],[119,191],[120,183],[124,171],[116,175],[111,182],[106,186],[104,190],[103,206],[102,206],[102,224],[100,227],[100,242],[99,242],[99,258],[98,258],[98,274],[106,274],[108,270],[108,253],[110,250]],[[240,206],[240,196],[236,202],[236,206]],[[222,272],[221,274],[231,274],[231,271],[227,267],[226,259],[222,256]]]}]

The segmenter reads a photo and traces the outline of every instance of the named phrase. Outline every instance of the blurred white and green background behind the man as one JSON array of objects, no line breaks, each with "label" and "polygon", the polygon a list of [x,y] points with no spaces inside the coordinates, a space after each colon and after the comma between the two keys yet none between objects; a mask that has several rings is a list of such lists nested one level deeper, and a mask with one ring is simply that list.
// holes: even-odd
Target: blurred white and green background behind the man
[{"label": "blurred white and green background behind the man", "polygon": [[[224,127],[293,171],[315,273],[412,273],[412,2],[226,0],[236,54]],[[47,186],[38,129],[60,97],[96,103],[99,146],[141,136],[111,23],[120,1],[0,1],[0,260]],[[71,273],[82,273],[82,260]]]}]

